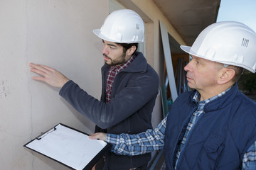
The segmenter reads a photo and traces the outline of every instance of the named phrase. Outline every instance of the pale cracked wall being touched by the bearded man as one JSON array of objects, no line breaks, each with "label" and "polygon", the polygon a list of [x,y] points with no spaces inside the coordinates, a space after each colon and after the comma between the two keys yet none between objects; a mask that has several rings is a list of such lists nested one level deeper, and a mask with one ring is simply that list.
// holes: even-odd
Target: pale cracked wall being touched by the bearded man
[{"label": "pale cracked wall being touched by the bearded man", "polygon": [[58,123],[93,132],[59,89],[31,79],[28,63],[58,69],[100,98],[102,40],[92,29],[108,11],[105,0],[0,1],[0,169],[67,169],[23,145]]}]

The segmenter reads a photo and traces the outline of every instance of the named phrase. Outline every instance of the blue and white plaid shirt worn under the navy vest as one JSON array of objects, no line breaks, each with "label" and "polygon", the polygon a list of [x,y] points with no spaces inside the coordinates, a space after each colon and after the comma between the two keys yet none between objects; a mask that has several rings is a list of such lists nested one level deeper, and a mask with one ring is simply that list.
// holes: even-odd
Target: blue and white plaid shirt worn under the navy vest
[{"label": "blue and white plaid shirt worn under the navy vest", "polygon": [[[228,89],[229,90],[229,89]],[[227,91],[228,91],[227,90]],[[191,121],[188,123],[188,127],[186,128],[185,135],[183,137],[183,142],[178,147],[179,152],[183,148],[184,142],[186,142],[186,137],[190,132],[193,125],[200,118],[200,115],[203,114],[203,106],[213,101],[215,98],[223,96],[227,91],[214,96],[206,101],[199,102],[198,93],[195,94],[193,100],[198,103],[198,109],[191,116]],[[164,132],[166,129],[166,118],[159,123],[158,127],[154,130],[146,130],[146,132],[139,133],[137,135],[129,135],[129,134],[107,134],[107,142],[112,144],[112,152],[116,154],[124,154],[124,155],[138,155],[138,154],[146,154],[152,152],[154,150],[159,150],[164,148]],[[176,153],[176,158],[178,161],[179,153]],[[247,149],[244,157],[242,159],[242,169],[252,170],[256,169],[256,141],[255,143]]]}]

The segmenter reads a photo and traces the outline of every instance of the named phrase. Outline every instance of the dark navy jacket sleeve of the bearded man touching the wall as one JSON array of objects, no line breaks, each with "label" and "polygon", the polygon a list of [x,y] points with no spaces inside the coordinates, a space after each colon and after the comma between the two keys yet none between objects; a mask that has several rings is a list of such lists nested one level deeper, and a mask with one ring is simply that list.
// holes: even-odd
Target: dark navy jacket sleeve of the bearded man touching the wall
[{"label": "dark navy jacket sleeve of the bearded man touching the wall", "polygon": [[129,81],[110,103],[104,103],[80,89],[78,84],[68,81],[60,96],[65,98],[78,112],[92,120],[100,128],[110,128],[142,108],[159,91],[159,78],[154,75],[143,75]]}]

